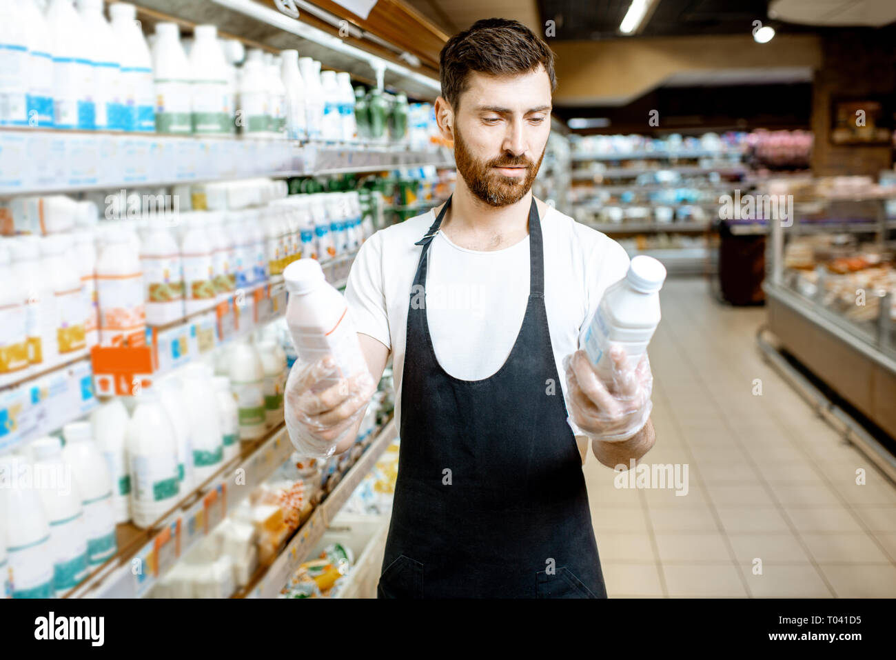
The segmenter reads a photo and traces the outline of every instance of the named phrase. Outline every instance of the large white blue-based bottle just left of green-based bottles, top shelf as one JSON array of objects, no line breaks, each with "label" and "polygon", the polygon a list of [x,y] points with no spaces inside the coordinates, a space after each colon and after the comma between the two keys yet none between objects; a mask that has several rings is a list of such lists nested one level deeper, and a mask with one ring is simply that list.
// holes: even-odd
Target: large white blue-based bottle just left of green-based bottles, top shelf
[{"label": "large white blue-based bottle just left of green-based bottles, top shelf", "polygon": [[155,89],[152,56],[137,27],[133,4],[109,5],[109,17],[121,56],[122,126],[124,131],[152,133],[156,130]]}]

